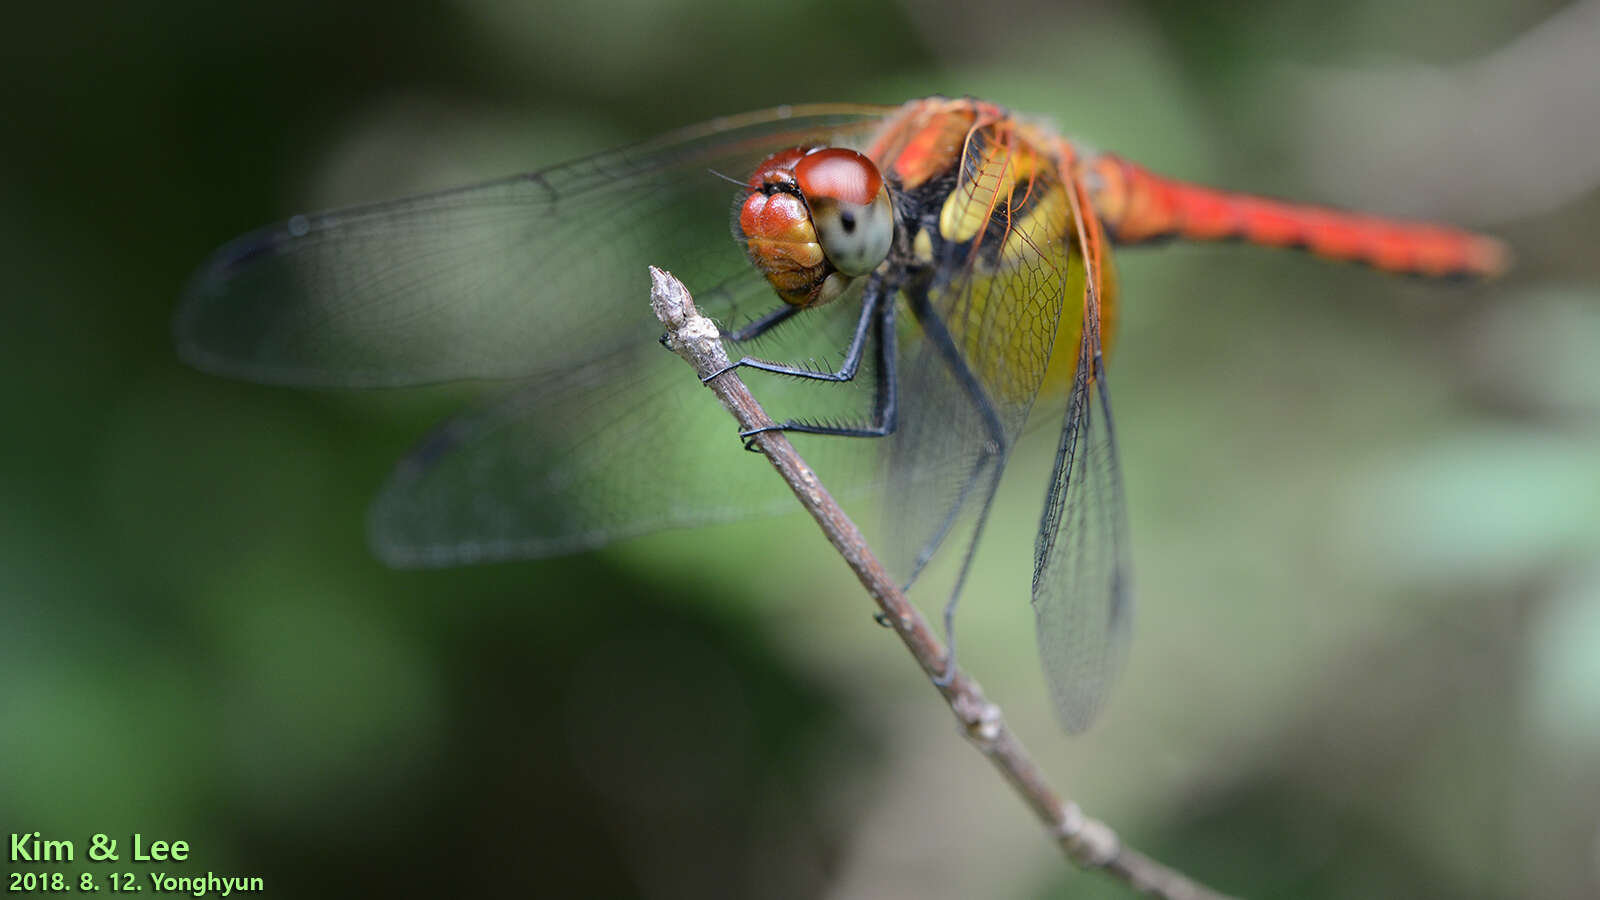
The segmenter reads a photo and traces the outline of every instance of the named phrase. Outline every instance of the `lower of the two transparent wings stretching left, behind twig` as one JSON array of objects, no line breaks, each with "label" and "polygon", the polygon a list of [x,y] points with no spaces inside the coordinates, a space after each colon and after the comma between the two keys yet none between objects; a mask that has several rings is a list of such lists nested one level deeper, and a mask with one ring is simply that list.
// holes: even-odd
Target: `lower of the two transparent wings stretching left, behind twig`
[{"label": "lower of the two transparent wings stretching left, behind twig", "polygon": [[[637,282],[634,293],[645,301],[648,275]],[[837,364],[858,309],[859,287],[803,312],[762,346],[784,359]],[[875,372],[869,360],[862,384],[749,381],[774,416],[843,418],[870,404],[866,384]],[[872,442],[795,442],[838,493],[880,480]],[[794,509],[770,466],[742,450],[714,394],[650,338],[526,380],[437,429],[397,466],[368,527],[374,551],[394,565],[453,565],[555,556]]]}]

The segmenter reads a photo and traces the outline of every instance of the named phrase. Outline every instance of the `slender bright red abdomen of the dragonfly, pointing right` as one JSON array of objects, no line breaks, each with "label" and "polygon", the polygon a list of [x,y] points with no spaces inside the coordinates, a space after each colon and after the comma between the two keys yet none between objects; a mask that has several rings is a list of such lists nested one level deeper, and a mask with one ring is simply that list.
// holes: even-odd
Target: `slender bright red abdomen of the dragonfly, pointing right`
[{"label": "slender bright red abdomen of the dragonfly, pointing right", "polygon": [[1086,168],[1094,208],[1118,243],[1246,240],[1426,277],[1491,277],[1509,263],[1504,243],[1461,229],[1187,184],[1114,155]]}]

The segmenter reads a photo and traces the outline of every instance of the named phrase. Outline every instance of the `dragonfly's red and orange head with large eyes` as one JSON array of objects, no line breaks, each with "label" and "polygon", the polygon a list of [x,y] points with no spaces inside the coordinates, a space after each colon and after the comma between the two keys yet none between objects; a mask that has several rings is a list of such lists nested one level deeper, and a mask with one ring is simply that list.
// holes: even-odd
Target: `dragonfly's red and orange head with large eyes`
[{"label": "dragonfly's red and orange head with large eyes", "polygon": [[746,251],[778,296],[821,306],[878,267],[894,207],[878,167],[843,147],[790,147],[755,168],[739,207]]}]

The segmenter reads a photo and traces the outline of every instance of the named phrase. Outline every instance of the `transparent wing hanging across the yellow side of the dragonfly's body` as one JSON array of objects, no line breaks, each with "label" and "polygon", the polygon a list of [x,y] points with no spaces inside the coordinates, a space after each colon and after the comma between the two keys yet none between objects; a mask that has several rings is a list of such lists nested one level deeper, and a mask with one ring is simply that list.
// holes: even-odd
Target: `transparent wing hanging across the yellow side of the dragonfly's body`
[{"label": "transparent wing hanging across the yellow side of the dragonfly's body", "polygon": [[[974,130],[942,231],[952,239],[902,328],[901,429],[888,439],[886,556],[907,581],[971,528],[1050,370],[1074,263],[1054,165],[1008,123]],[[912,307],[915,309],[915,298]]]}]

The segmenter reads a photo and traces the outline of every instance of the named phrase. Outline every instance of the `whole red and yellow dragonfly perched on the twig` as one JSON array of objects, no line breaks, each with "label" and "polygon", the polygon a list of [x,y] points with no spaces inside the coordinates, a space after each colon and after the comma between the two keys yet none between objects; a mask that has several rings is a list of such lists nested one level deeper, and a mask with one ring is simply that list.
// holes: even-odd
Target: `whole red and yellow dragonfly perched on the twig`
[{"label": "whole red and yellow dragonfly perched on the twig", "polygon": [[1491,237],[1187,184],[936,96],[725,117],[291,216],[198,269],[174,335],[192,365],[261,383],[504,383],[379,492],[368,532],[394,565],[549,557],[787,509],[741,442],[707,439],[726,436],[722,410],[658,344],[646,266],[661,266],[718,322],[773,428],[835,493],[875,508],[874,541],[907,586],[960,548],[947,631],[1000,476],[1042,421],[1059,437],[1032,605],[1056,713],[1080,732],[1131,628],[1109,248],[1163,239],[1424,277],[1509,259]]}]

